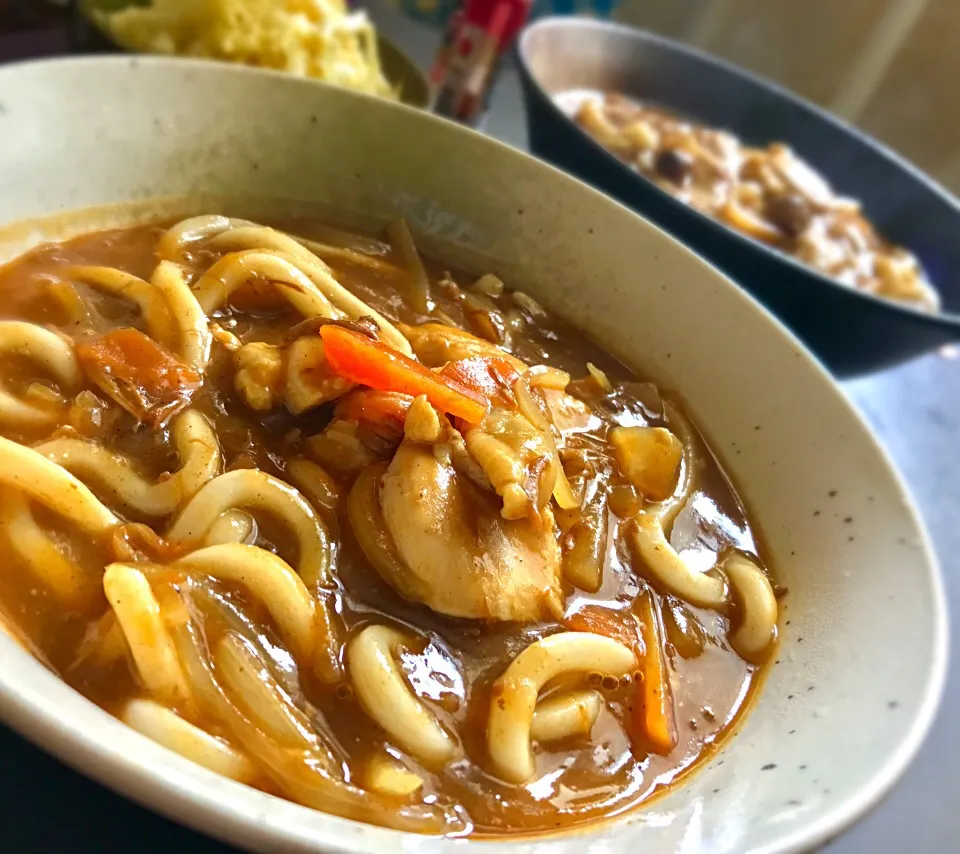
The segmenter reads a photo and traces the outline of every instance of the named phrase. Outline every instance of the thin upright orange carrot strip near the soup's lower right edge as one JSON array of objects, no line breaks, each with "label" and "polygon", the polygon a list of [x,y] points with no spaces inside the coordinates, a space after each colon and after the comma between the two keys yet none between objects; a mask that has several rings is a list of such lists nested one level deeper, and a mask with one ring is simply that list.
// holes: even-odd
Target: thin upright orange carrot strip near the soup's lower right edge
[{"label": "thin upright orange carrot strip near the soup's lower right edge", "polygon": [[650,749],[666,756],[677,746],[679,736],[673,690],[667,675],[660,615],[650,591],[637,597],[635,607],[640,618],[645,653],[640,668],[643,680],[637,686],[638,702],[633,707],[634,723],[636,729],[646,736]]}]

